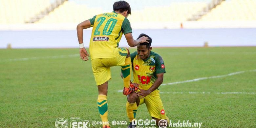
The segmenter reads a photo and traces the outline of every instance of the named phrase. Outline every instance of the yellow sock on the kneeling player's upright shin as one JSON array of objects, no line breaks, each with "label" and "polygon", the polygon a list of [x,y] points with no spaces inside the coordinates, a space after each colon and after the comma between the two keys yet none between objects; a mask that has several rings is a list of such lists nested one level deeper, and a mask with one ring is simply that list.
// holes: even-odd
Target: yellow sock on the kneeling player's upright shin
[{"label": "yellow sock on the kneeling player's upright shin", "polygon": [[130,102],[126,102],[126,113],[127,116],[130,120],[130,122],[132,122],[133,119],[135,119],[136,117],[136,113],[137,113],[137,104],[135,103],[130,103]]}]

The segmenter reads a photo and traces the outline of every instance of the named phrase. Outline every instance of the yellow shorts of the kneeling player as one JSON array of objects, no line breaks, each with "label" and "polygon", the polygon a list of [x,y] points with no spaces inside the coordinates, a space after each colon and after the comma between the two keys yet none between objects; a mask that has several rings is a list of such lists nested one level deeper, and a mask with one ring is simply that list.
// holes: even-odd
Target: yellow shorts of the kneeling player
[{"label": "yellow shorts of the kneeling player", "polygon": [[142,99],[139,98],[139,105],[145,103],[151,117],[155,117],[158,119],[167,119],[168,117],[165,114],[159,92],[159,90],[155,90],[148,96],[143,97]]}]

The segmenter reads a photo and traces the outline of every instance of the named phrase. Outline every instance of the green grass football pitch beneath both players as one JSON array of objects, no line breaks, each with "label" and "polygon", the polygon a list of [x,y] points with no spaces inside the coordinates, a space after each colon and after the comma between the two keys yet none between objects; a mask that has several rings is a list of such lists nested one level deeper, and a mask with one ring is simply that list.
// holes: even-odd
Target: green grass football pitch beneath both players
[{"label": "green grass football pitch beneath both players", "polygon": [[[160,86],[165,112],[172,122],[202,122],[203,128],[256,127],[256,72],[250,71],[256,69],[256,47],[153,48],[152,51],[159,53],[165,62],[163,83],[245,71]],[[78,53],[78,49],[1,49],[0,127],[54,128],[56,118],[61,116],[80,117],[90,123],[100,121],[91,62],[82,61]],[[111,68],[111,73],[109,121],[128,122],[126,97],[117,92],[123,87],[120,67]],[[137,119],[151,119],[145,105],[139,107]],[[112,126],[116,127],[126,126]]]}]

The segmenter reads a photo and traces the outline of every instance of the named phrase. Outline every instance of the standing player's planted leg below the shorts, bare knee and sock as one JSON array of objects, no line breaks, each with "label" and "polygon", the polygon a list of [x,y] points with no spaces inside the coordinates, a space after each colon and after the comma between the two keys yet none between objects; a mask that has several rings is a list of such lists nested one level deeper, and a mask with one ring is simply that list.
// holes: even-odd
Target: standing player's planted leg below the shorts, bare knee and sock
[{"label": "standing player's planted leg below the shorts, bare knee and sock", "polygon": [[108,103],[107,103],[107,94],[108,94],[108,81],[104,84],[98,85],[98,109],[99,114],[102,120],[103,128],[109,128],[108,122]]}]

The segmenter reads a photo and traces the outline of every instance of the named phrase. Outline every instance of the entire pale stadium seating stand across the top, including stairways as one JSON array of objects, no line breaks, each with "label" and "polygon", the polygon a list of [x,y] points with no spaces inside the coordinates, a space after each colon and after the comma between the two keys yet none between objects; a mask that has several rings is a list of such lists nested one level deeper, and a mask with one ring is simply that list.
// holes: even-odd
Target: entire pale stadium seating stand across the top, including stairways
[{"label": "entire pale stadium seating stand across the top, including stairways", "polygon": [[[0,25],[2,30],[15,28],[16,24],[20,24],[21,30],[35,28],[32,24],[25,23],[36,23],[33,25],[38,28],[52,28],[58,25],[59,29],[71,29],[75,24],[96,14],[112,11],[112,5],[116,1],[0,0]],[[126,1],[132,8],[132,15],[128,19],[136,29],[180,28],[181,25],[184,28],[204,28],[203,26],[209,26],[211,21],[218,21],[214,26],[217,28],[222,24],[234,24],[226,21],[239,21],[234,27],[241,27],[239,24],[246,24],[245,27],[248,27],[255,26],[253,24],[256,21],[256,0]],[[193,18],[194,16],[196,18]]]}]

